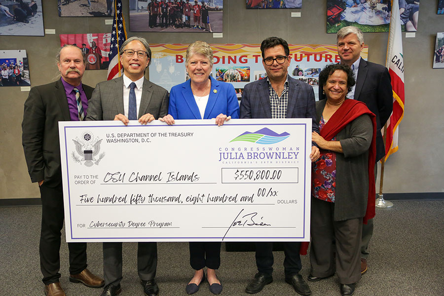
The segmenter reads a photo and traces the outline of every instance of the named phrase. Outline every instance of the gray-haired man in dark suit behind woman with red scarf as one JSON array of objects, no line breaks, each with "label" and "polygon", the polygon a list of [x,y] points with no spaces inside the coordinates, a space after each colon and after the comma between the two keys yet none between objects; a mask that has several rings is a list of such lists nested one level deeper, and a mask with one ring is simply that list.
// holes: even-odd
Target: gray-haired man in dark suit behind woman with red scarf
[{"label": "gray-haired man in dark suit behind woman with red scarf", "polygon": [[[352,68],[356,85],[347,98],[367,104],[376,115],[376,162],[385,156],[381,128],[385,125],[393,110],[393,92],[390,74],[384,66],[370,63],[361,58],[364,48],[364,37],[360,29],[348,26],[340,29],[336,35],[337,53],[341,63]],[[325,99],[323,86],[319,85],[319,99]],[[375,166],[375,178],[376,178]],[[368,247],[373,235],[373,219],[363,224],[361,243],[361,273],[367,271]]]}]

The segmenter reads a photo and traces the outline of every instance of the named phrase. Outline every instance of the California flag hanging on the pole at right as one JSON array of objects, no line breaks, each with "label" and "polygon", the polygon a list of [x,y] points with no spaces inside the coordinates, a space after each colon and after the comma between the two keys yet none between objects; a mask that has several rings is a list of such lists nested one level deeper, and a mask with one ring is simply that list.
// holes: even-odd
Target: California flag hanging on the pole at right
[{"label": "California flag hanging on the pole at right", "polygon": [[385,66],[389,70],[393,89],[393,112],[387,121],[385,140],[385,160],[387,160],[390,154],[398,151],[398,126],[404,116],[403,38],[398,0],[392,0],[392,16]]}]

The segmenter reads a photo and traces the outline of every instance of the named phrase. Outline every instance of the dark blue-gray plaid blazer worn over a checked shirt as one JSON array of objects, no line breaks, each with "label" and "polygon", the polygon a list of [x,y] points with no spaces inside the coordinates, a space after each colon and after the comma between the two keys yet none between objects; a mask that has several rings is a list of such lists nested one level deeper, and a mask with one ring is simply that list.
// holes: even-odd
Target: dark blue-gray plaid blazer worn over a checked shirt
[{"label": "dark blue-gray plaid blazer worn over a checked shirt", "polygon": [[[288,77],[286,118],[311,118],[312,131],[318,132],[313,88],[305,82]],[[266,79],[248,83],[240,103],[240,118],[271,118],[270,95]]]}]

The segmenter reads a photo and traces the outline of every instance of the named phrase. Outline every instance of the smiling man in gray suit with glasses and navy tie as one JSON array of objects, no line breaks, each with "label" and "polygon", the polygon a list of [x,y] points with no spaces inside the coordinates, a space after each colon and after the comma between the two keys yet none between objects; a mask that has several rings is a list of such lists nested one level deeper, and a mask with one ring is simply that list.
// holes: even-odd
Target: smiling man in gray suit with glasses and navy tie
[{"label": "smiling man in gray suit with glasses and navy tie", "polygon": [[[121,77],[100,82],[89,102],[86,120],[129,120],[147,124],[168,113],[168,92],[149,82],[145,69],[150,63],[151,49],[145,38],[131,37],[123,42],[120,50],[123,66]],[[138,114],[138,115],[137,115]],[[105,289],[101,296],[120,293],[122,279],[122,243],[103,243]],[[146,296],[155,296],[159,288],[154,280],[157,267],[155,242],[138,243],[137,265]]]}]

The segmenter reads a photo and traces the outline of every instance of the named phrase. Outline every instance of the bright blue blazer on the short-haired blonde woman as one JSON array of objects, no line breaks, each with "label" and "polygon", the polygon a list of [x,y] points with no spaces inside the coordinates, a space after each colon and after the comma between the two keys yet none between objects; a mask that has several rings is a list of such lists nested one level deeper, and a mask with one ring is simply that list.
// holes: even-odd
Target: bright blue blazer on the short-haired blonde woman
[{"label": "bright blue blazer on the short-haired blonde woman", "polygon": [[174,119],[211,119],[223,113],[231,118],[239,118],[239,103],[233,85],[221,82],[210,76],[211,90],[205,108],[204,118],[191,91],[191,81],[185,81],[171,88],[168,113]]}]

